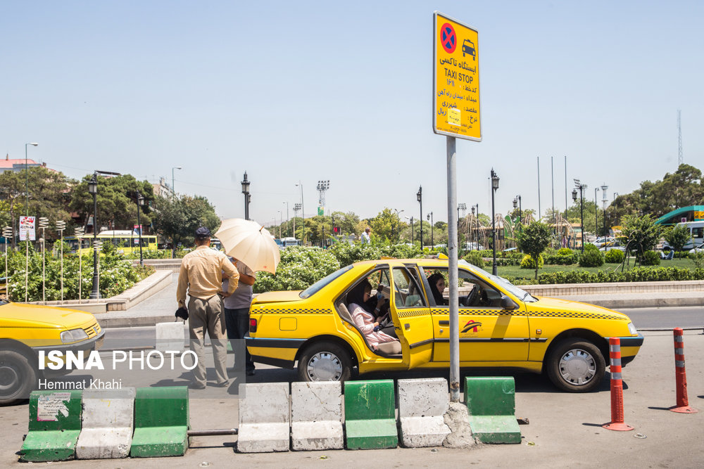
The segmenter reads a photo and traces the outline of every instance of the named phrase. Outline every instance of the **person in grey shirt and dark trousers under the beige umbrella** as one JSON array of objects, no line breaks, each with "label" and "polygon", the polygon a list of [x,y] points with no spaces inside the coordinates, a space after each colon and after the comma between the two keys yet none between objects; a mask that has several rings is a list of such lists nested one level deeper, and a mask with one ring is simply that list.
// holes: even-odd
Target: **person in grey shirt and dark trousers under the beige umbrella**
[{"label": "person in grey shirt and dark trousers under the beige umbrella", "polygon": [[[237,267],[239,273],[239,284],[234,293],[225,298],[225,327],[227,328],[227,338],[232,343],[234,352],[235,369],[241,369],[238,364],[242,363],[242,356],[238,354],[239,349],[234,345],[235,339],[244,339],[244,335],[249,331],[249,307],[252,304],[252,285],[257,279],[257,274],[252,271],[244,262],[234,257],[230,261]],[[226,274],[222,275],[222,290],[227,290],[230,284]],[[254,375],[254,362],[247,347],[244,347],[245,369],[248,376]]]}]

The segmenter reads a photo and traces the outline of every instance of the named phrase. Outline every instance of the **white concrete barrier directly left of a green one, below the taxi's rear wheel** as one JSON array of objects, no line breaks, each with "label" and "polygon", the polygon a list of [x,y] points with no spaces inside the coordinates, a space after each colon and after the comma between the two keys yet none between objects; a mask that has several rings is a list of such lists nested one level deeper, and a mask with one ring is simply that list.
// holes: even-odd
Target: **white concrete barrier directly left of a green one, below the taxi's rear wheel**
[{"label": "white concrete barrier directly left of a green one, below the taxi's rear wheel", "polygon": [[341,383],[291,383],[291,449],[343,447]]}]

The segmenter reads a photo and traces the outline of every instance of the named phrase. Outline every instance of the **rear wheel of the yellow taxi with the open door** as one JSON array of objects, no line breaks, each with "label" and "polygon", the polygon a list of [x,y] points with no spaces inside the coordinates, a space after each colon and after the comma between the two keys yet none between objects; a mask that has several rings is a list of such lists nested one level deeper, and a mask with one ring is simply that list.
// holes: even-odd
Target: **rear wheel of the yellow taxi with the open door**
[{"label": "rear wheel of the yellow taxi with the open door", "polygon": [[301,381],[345,381],[352,373],[348,352],[333,342],[310,345],[298,360]]}]

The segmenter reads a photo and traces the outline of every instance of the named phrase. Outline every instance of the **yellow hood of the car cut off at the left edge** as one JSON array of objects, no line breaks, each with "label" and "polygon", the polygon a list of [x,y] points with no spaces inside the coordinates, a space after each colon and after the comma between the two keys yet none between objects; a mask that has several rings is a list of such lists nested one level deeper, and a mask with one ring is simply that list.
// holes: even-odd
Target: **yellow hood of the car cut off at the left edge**
[{"label": "yellow hood of the car cut off at the left edge", "polygon": [[95,316],[85,311],[46,307],[41,304],[8,303],[0,306],[0,327],[77,328],[94,323]]}]

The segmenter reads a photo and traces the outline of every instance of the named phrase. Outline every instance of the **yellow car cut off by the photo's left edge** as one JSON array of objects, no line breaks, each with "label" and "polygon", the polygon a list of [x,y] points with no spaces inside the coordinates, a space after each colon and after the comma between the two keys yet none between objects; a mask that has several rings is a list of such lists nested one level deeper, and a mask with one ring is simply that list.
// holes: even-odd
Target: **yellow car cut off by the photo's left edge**
[{"label": "yellow car cut off by the photo's left edge", "polygon": [[0,300],[0,405],[29,397],[44,375],[40,351],[89,352],[103,345],[104,335],[90,313]]}]

